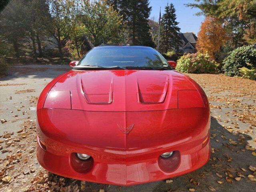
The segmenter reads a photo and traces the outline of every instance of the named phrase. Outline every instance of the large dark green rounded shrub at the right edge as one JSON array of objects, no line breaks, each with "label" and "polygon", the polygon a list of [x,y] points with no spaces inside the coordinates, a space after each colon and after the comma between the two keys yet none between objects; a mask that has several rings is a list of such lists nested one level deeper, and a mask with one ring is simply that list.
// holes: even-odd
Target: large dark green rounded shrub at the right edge
[{"label": "large dark green rounded shrub at the right edge", "polygon": [[256,49],[251,45],[238,47],[230,52],[223,64],[223,71],[226,75],[240,76],[239,68],[256,68]]}]

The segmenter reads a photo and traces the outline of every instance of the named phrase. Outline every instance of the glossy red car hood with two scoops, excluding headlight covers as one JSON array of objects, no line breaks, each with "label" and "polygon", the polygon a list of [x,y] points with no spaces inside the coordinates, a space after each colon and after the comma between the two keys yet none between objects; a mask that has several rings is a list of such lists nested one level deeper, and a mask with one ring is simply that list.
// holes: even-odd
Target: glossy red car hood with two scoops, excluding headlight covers
[{"label": "glossy red car hood with two scoops, excluding headlight covers", "polygon": [[71,70],[54,90],[70,92],[74,110],[153,111],[178,108],[178,91],[196,88],[174,70]]}]

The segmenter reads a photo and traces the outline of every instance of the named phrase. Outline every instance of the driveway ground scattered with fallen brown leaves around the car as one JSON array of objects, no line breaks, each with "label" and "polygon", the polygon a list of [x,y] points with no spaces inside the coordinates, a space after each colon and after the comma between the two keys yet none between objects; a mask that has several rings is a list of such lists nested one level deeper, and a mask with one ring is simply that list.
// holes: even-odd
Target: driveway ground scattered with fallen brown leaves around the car
[{"label": "driveway ground scattered with fallen brown leaves around the car", "polygon": [[64,178],[49,173],[38,164],[36,102],[42,88],[60,70],[48,66],[39,71],[14,71],[14,76],[0,79],[1,192],[256,190],[256,81],[224,75],[188,74],[202,86],[210,102],[212,154],[209,162],[184,176],[120,187]]}]

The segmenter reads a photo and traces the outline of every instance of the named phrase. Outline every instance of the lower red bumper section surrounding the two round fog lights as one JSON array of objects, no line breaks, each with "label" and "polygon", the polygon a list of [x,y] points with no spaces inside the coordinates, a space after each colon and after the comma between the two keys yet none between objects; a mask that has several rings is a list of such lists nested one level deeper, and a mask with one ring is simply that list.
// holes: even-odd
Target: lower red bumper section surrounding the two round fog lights
[{"label": "lower red bumper section surrounding the two round fog lights", "polygon": [[[64,144],[57,142],[52,144],[62,149],[66,147]],[[72,166],[72,158],[76,158],[76,156],[72,154],[70,156],[56,155],[43,150],[39,145],[37,158],[42,167],[61,176],[89,182],[128,186],[164,180],[197,170],[204,166],[210,158],[210,141],[208,140],[203,148],[201,145],[192,150],[181,152],[178,166],[170,172],[161,169],[158,158],[148,158],[137,162],[128,162],[127,160],[101,162],[94,160],[88,172],[79,173]]]}]

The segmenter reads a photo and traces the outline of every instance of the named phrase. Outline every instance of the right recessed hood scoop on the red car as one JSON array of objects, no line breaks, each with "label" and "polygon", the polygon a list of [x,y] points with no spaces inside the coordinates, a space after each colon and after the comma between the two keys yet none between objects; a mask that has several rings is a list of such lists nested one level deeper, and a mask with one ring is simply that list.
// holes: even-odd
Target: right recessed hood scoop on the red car
[{"label": "right recessed hood scoop on the red car", "polygon": [[[163,79],[162,81],[159,81]],[[168,76],[166,78],[152,78],[146,80],[137,80],[137,99],[142,104],[163,103],[168,92]],[[142,87],[142,89],[140,88]]]}]

